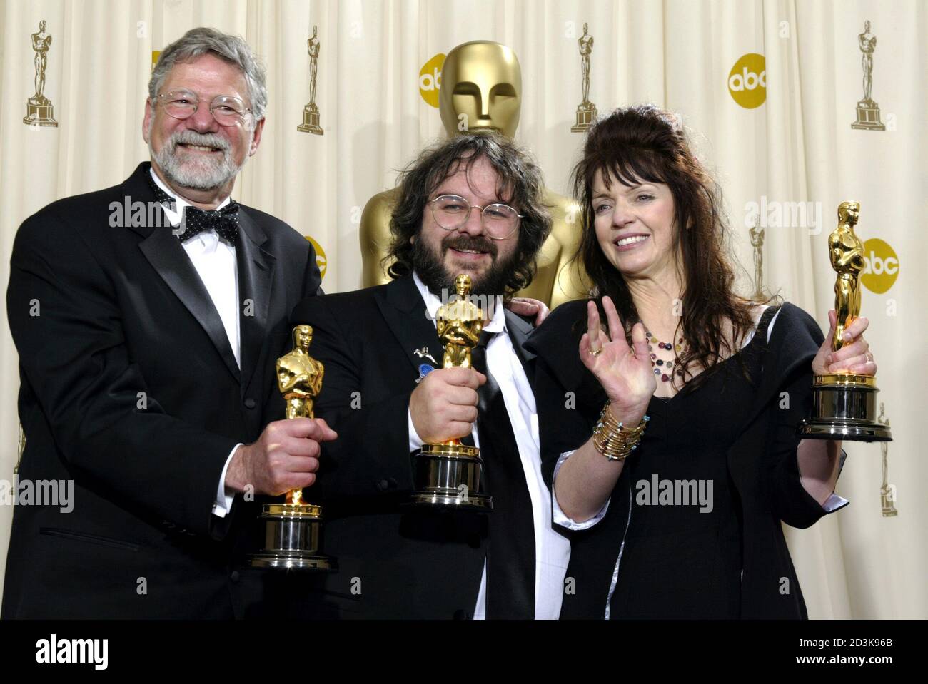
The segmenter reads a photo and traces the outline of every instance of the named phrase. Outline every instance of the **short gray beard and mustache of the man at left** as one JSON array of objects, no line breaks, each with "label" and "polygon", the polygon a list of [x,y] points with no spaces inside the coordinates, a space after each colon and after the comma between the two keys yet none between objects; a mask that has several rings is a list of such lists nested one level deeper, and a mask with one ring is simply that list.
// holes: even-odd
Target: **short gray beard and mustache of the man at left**
[{"label": "short gray beard and mustache of the man at left", "polygon": [[[248,160],[246,156],[240,165],[236,164],[228,142],[218,135],[209,133],[177,131],[164,142],[160,152],[155,152],[151,146],[150,136],[148,141],[151,158],[158,164],[168,183],[193,190],[214,190],[230,183]],[[195,158],[184,152],[183,148],[178,146],[179,143],[220,147],[223,157]]]}]

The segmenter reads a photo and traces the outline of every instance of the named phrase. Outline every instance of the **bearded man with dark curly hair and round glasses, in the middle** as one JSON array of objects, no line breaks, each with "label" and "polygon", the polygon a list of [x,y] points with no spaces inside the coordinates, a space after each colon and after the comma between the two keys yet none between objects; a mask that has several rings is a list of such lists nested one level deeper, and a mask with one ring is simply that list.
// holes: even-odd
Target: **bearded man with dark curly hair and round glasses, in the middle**
[{"label": "bearded man with dark curly hair and round glasses, in the middle", "polygon": [[[401,176],[391,220],[393,281],[307,298],[292,323],[314,329],[326,368],[316,415],[314,496],[340,572],[317,580],[307,614],[373,618],[556,618],[567,539],[552,530],[540,472],[532,324],[495,306],[528,285],[550,231],[541,172],[508,138],[455,136]],[[435,314],[459,275],[486,320],[471,368],[442,368]],[[436,370],[432,370],[436,369]],[[474,425],[476,423],[476,425]],[[473,438],[492,513],[410,509],[412,454]]]}]

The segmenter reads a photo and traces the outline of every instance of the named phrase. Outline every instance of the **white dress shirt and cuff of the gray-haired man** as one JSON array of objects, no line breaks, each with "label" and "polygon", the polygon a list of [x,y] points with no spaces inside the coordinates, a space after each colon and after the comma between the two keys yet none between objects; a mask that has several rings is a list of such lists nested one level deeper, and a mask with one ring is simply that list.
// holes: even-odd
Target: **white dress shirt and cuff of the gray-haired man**
[{"label": "white dress shirt and cuff of the gray-haired man", "polygon": [[[172,197],[176,204],[176,211],[170,207],[161,205],[164,213],[172,226],[177,226],[183,219],[185,207],[190,203],[183,197],[177,196],[174,191],[166,184],[161,182],[158,174],[154,170],[149,170],[151,177],[158,187],[161,188],[168,196]],[[231,200],[226,197],[223,202],[216,207],[222,209]],[[193,263],[193,267],[200,274],[200,280],[206,286],[206,291],[210,293],[213,299],[213,306],[222,319],[223,327],[226,329],[226,336],[229,338],[229,345],[232,347],[232,353],[235,354],[235,361],[241,367],[241,350],[238,329],[238,264],[236,262],[235,245],[229,245],[225,240],[219,239],[219,234],[214,230],[202,231],[193,237],[187,238],[182,244],[187,256]],[[219,517],[225,517],[232,508],[232,501],[235,499],[235,492],[226,491],[226,470],[229,462],[235,455],[236,450],[241,444],[235,445],[226,458],[226,465],[223,466],[222,475],[219,477],[219,486],[216,488],[216,500],[213,504],[213,514]]]}]

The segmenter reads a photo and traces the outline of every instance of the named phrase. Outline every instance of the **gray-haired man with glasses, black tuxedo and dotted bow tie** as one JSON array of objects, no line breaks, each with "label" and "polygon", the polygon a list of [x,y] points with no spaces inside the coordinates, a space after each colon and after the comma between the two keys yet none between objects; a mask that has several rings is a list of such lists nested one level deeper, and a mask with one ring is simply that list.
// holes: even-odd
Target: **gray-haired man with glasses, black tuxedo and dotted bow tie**
[{"label": "gray-haired man with glasses, black tuxedo and dotted bow tie", "polygon": [[[253,495],[312,485],[335,437],[278,420],[274,361],[320,292],[313,248],[230,198],[261,142],[264,70],[242,39],[194,29],[148,89],[150,164],[41,209],[13,247],[20,482],[72,500],[16,507],[5,618],[245,614]],[[150,218],[129,220],[137,203]]]}]

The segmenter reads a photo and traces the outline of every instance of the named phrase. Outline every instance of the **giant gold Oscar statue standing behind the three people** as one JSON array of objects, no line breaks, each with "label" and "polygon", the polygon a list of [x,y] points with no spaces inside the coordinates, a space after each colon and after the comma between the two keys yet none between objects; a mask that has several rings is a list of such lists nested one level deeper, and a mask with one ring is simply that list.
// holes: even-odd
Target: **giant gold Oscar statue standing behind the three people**
[{"label": "giant gold Oscar statue standing behind the three people", "polygon": [[[509,47],[491,41],[460,44],[445,57],[439,111],[448,136],[496,131],[514,137],[522,110],[522,69]],[[364,286],[390,282],[381,260],[390,247],[390,214],[396,191],[375,195],[361,215]],[[540,299],[551,309],[571,299],[586,298],[578,266],[570,263],[580,235],[580,209],[573,200],[545,190],[551,212],[551,234],[537,257],[532,285],[518,297]],[[518,209],[518,207],[516,208]]]}]

